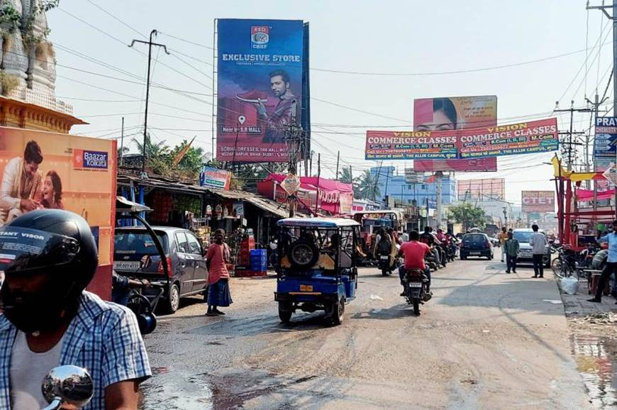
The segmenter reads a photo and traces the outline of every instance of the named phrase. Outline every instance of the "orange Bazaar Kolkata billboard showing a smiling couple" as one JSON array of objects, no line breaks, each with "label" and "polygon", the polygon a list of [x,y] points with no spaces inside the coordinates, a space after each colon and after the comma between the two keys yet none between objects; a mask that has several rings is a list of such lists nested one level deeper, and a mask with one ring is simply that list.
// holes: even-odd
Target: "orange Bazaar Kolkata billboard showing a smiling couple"
[{"label": "orange Bazaar Kolkata billboard showing a smiling couple", "polygon": [[[43,161],[24,172],[26,151]],[[0,226],[33,209],[66,209],[83,216],[99,247],[89,290],[111,297],[116,210],[116,141],[0,127]],[[29,157],[29,155],[28,155]]]}]

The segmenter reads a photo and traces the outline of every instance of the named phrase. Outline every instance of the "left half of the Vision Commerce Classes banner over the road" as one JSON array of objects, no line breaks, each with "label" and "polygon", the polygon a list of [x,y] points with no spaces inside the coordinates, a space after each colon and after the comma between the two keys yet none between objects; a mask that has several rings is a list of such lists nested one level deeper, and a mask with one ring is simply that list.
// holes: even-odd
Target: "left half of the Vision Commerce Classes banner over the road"
[{"label": "left half of the Vision Commerce Classes banner over the road", "polygon": [[456,135],[431,131],[367,131],[366,160],[450,160],[457,157]]}]

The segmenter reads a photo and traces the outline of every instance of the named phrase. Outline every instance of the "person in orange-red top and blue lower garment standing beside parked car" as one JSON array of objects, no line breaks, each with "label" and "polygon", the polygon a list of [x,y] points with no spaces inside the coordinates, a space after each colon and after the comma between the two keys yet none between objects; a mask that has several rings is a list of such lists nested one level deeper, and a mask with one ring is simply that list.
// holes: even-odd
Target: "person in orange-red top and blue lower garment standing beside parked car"
[{"label": "person in orange-red top and blue lower garment standing beside parked car", "polygon": [[229,292],[229,272],[227,264],[230,260],[229,246],[225,243],[225,231],[217,229],[214,233],[214,243],[206,253],[208,267],[208,311],[206,316],[224,315],[219,307],[227,307],[233,303]]}]

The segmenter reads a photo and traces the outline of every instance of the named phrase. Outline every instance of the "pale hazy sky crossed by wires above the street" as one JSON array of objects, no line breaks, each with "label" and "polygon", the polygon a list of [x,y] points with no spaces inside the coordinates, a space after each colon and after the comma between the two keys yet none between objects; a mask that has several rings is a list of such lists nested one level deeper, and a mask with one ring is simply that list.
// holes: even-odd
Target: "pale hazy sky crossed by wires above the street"
[{"label": "pale hazy sky crossed by wires above the street", "polygon": [[[590,11],[588,16],[585,5],[585,0],[62,0],[60,9],[48,13],[48,20],[50,40],[57,45],[58,64],[78,69],[57,67],[57,95],[60,99],[71,97],[64,99],[74,105],[74,114],[91,124],[75,127],[73,133],[117,137],[122,114],[126,118],[126,133],[139,131],[143,123],[146,57],[127,45],[133,38],[144,39],[138,33],[147,36],[156,28],[161,32],[157,41],[165,43],[172,55],[154,52],[153,82],[194,94],[179,95],[152,88],[152,115],[148,120],[151,131],[155,139],[165,140],[169,145],[197,135],[196,143],[206,151],[211,150],[209,77],[213,71],[213,20],[309,21],[311,68],[317,69],[311,71],[313,150],[321,153],[322,170],[330,168],[326,175],[331,175],[337,150],[341,152],[342,165],[352,164],[355,173],[374,165],[363,160],[365,131],[374,126],[411,127],[414,98],[494,94],[498,98],[500,122],[513,123],[550,116],[558,100],[560,108],[569,108],[572,99],[575,106],[584,106],[584,96],[593,99],[596,85],[602,94],[612,62],[611,34],[607,31],[607,19],[599,11]],[[604,48],[576,52],[584,50],[586,42],[587,47],[594,46],[602,28],[603,38],[606,36]],[[145,45],[135,48],[147,52]],[[122,72],[77,57],[75,52]],[[569,55],[517,65],[562,54]],[[435,74],[503,65],[516,66]],[[608,96],[612,100],[611,90]],[[558,118],[562,126],[568,125],[569,114],[559,114]],[[577,114],[574,121],[577,131],[589,127],[587,115]],[[507,199],[520,203],[521,189],[553,189],[554,184],[548,181],[550,167],[541,165],[550,156],[506,157],[499,160],[501,170],[497,173],[458,174],[457,178],[505,177]],[[402,172],[411,163],[392,165]]]}]

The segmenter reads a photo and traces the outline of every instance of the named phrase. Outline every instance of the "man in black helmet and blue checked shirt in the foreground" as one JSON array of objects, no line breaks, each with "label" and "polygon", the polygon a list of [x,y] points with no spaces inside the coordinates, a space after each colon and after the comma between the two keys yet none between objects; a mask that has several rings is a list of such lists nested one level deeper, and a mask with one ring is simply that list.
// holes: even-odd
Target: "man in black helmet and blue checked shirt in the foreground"
[{"label": "man in black helmet and blue checked shirt in the foreground", "polygon": [[0,409],[47,406],[41,382],[59,365],[91,375],[84,410],[137,409],[148,355],[135,315],[84,291],[97,265],[90,227],[72,212],[32,211],[0,228]]}]

